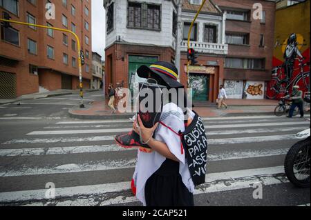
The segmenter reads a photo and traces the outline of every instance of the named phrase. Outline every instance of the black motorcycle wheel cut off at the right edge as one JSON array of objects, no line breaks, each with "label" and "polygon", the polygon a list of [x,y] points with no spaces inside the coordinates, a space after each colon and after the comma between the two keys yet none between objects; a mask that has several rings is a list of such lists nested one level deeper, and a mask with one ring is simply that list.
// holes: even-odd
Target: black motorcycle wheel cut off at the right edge
[{"label": "black motorcycle wheel cut off at the right edge", "polygon": [[290,148],[285,157],[284,170],[286,177],[295,186],[310,187],[310,137]]}]

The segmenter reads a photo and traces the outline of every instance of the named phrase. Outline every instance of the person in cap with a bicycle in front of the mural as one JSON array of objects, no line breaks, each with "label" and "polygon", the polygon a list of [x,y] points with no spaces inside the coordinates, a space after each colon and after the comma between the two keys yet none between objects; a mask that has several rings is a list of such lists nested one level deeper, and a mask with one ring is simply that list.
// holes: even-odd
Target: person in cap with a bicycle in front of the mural
[{"label": "person in cap with a bicycle in front of the mural", "polygon": [[288,94],[285,97],[281,97],[281,99],[290,99],[292,100],[292,105],[290,106],[290,113],[288,118],[292,118],[292,114],[296,107],[299,108],[300,117],[303,118],[303,92],[299,90],[299,86],[292,87],[292,94]]}]

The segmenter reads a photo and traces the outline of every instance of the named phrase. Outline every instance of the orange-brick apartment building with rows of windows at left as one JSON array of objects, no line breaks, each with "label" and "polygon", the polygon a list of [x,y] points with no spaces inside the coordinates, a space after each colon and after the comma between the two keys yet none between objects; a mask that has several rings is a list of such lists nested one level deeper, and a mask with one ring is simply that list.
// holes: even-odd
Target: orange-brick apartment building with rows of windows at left
[{"label": "orange-brick apartment building with rows of windows at left", "polygon": [[[0,13],[1,18],[6,13],[14,21],[75,32],[85,54],[83,88],[90,88],[91,0],[1,0]],[[73,34],[17,23],[10,23],[10,27],[6,27],[1,23],[0,99],[78,88],[78,48]]]}]

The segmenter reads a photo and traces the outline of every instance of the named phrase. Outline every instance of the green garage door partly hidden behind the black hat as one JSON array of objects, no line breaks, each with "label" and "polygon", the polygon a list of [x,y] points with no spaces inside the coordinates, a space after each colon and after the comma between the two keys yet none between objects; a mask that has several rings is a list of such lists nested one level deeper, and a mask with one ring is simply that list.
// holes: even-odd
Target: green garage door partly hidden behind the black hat
[{"label": "green garage door partly hidden behind the black hat", "polygon": [[131,92],[133,92],[133,82],[138,68],[142,65],[150,66],[156,61],[158,61],[158,57],[129,56],[129,88]]}]

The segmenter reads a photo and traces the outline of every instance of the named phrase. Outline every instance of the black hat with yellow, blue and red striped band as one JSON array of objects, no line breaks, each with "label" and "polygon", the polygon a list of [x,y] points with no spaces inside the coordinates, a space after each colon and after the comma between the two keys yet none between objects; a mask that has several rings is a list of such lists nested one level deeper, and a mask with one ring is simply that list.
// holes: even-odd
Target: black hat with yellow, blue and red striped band
[{"label": "black hat with yellow, blue and red striped band", "polygon": [[184,88],[184,86],[177,81],[178,70],[176,66],[172,63],[165,61],[157,61],[156,63],[148,66],[140,66],[137,70],[138,77],[149,78],[149,72],[151,72],[151,77],[157,81],[164,81],[165,85],[169,88]]}]

